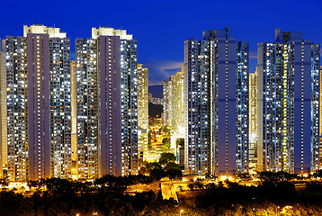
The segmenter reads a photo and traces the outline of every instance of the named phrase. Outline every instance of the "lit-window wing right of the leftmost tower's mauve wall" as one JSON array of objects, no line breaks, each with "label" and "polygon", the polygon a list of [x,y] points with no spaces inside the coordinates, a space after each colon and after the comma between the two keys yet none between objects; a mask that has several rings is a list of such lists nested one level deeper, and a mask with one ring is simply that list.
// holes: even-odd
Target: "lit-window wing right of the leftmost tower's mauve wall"
[{"label": "lit-window wing right of the leftmost tower's mauve wall", "polygon": [[49,47],[51,176],[72,178],[70,40]]}]

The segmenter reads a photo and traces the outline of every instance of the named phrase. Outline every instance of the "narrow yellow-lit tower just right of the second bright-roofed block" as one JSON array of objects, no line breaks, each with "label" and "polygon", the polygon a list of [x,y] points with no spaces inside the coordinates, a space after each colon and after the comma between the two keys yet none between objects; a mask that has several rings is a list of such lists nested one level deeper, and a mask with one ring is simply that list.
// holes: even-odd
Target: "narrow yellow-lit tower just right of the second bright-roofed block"
[{"label": "narrow yellow-lit tower just right of the second bright-roofed block", "polygon": [[148,152],[148,67],[138,64],[138,153],[143,161]]}]

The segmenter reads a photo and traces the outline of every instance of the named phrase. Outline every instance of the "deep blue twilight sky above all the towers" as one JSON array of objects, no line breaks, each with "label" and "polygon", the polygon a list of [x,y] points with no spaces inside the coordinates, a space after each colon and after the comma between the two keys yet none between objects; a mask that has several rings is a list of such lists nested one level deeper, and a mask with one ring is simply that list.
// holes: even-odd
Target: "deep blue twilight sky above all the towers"
[{"label": "deep blue twilight sky above all the towers", "polygon": [[184,40],[201,39],[204,30],[229,25],[233,37],[249,41],[250,72],[257,42],[273,41],[276,28],[322,43],[322,0],[0,0],[0,8],[0,38],[21,36],[23,24],[55,24],[71,38],[72,52],[76,37],[90,38],[92,27],[127,30],[138,40],[139,63],[149,67],[150,85],[180,70]]}]

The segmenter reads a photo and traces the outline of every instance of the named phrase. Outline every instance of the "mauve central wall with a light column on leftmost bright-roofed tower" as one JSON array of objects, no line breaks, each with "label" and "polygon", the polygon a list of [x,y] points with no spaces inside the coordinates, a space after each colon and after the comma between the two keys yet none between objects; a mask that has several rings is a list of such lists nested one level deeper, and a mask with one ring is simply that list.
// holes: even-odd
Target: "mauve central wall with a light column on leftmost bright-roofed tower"
[{"label": "mauve central wall with a light column on leftmost bright-roofed tower", "polygon": [[38,180],[50,177],[48,34],[27,34],[27,62],[29,179]]}]

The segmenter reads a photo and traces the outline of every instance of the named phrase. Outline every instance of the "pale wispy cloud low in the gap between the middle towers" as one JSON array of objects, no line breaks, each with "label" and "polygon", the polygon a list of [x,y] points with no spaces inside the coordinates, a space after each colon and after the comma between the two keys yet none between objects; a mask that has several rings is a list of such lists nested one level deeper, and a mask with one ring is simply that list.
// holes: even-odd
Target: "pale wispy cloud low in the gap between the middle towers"
[{"label": "pale wispy cloud low in the gap between the middle towers", "polygon": [[144,63],[143,67],[148,67],[148,85],[162,85],[163,80],[181,71],[183,62],[153,60]]}]

